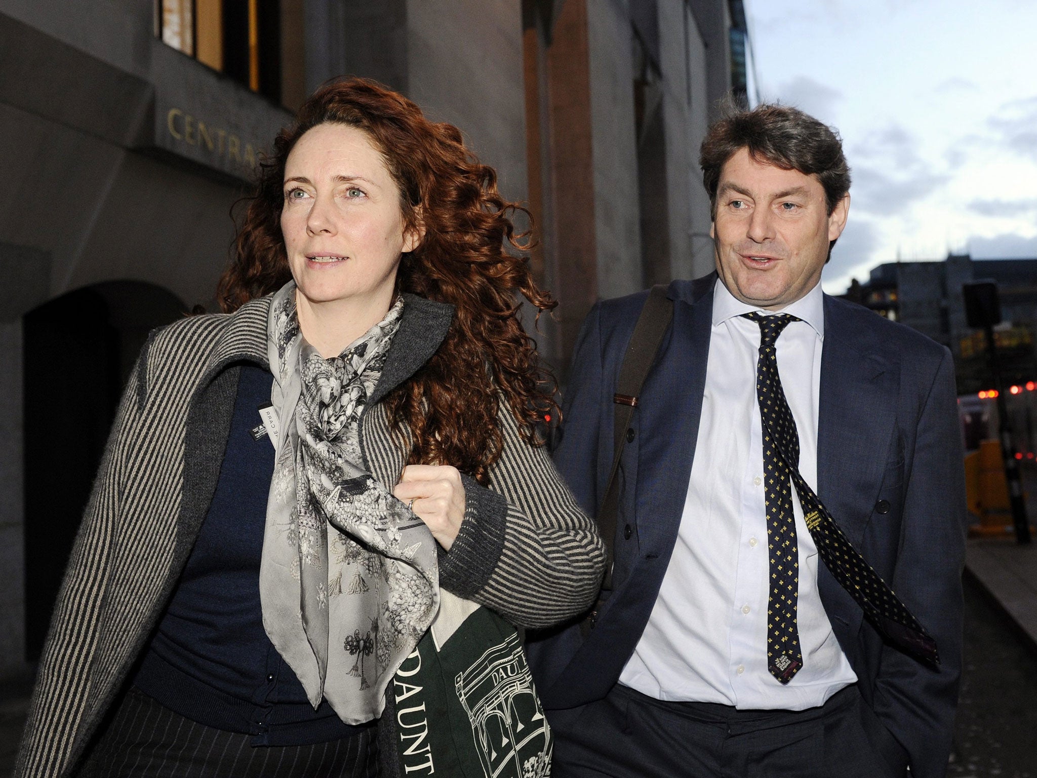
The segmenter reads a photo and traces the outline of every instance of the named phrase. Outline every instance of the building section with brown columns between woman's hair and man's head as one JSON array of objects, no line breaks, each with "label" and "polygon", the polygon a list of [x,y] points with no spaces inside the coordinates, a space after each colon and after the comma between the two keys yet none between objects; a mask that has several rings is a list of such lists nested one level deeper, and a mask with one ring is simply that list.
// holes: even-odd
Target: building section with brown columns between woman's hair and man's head
[{"label": "building section with brown columns between woman's hair and man's head", "polygon": [[712,270],[698,149],[719,101],[732,87],[745,100],[745,11],[716,0],[523,11],[534,261],[560,303],[541,342],[562,372],[595,301]]}]

